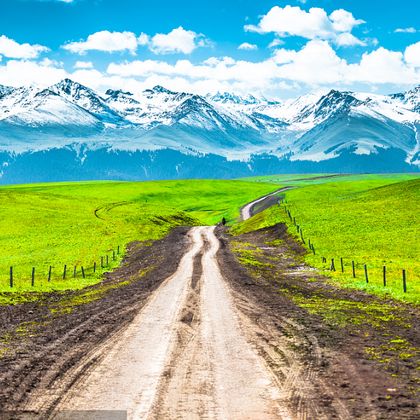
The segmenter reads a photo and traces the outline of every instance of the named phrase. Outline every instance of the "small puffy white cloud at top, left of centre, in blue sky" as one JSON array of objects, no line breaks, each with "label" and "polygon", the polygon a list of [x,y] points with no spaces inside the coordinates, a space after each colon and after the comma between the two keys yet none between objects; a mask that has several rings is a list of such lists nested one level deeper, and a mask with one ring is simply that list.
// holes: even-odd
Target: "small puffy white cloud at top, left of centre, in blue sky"
[{"label": "small puffy white cloud at top, left of centre, in blue sky", "polygon": [[156,34],[150,39],[149,48],[155,54],[191,54],[197,47],[204,46],[203,36],[182,26],[167,34]]}]

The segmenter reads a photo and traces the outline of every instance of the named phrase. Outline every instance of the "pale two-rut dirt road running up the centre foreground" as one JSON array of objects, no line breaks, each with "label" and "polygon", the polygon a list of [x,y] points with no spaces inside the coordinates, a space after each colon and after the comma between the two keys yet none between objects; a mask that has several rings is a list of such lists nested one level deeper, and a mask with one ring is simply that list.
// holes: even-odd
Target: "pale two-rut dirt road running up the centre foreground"
[{"label": "pale two-rut dirt road running up the centre foreground", "polygon": [[290,418],[274,375],[246,339],[218,266],[214,227],[190,235],[175,274],[98,350],[101,361],[59,411],[127,410],[132,419]]}]

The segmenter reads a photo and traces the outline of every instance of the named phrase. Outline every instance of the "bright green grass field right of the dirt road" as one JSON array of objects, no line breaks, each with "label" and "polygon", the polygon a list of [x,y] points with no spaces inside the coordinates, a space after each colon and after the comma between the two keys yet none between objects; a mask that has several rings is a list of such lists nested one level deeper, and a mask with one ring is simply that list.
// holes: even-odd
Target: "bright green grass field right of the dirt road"
[{"label": "bright green grass field right of the dirt road", "polygon": [[[316,255],[309,253],[307,262],[325,270],[340,285],[419,303],[419,175],[308,178],[311,176],[254,179],[258,183],[297,187],[284,195],[305,241],[311,239],[315,246]],[[298,237],[296,227],[279,206],[236,225],[233,231],[239,234],[279,222],[287,223],[289,231]],[[322,263],[322,256],[327,258],[327,263]],[[337,269],[333,273],[328,270],[332,258]],[[344,274],[340,258],[344,261]],[[356,279],[352,277],[352,260],[356,263]],[[365,282],[364,264],[368,268],[369,284]],[[384,265],[386,288],[382,283]],[[403,269],[407,273],[407,293],[403,292]]]}]

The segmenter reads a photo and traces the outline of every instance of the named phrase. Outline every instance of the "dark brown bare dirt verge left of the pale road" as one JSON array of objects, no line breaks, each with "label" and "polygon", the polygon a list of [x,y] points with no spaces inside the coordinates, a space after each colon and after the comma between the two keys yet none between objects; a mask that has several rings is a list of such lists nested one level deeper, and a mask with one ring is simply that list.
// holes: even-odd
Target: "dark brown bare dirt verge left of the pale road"
[{"label": "dark brown bare dirt verge left of the pale road", "polygon": [[[48,393],[50,385],[68,375],[92,348],[127,326],[150,294],[176,271],[189,246],[187,231],[176,228],[162,240],[132,243],[122,265],[97,285],[2,307],[0,409],[20,410],[33,392]],[[76,380],[69,375],[64,386]],[[49,408],[57,403],[52,400]]]}]

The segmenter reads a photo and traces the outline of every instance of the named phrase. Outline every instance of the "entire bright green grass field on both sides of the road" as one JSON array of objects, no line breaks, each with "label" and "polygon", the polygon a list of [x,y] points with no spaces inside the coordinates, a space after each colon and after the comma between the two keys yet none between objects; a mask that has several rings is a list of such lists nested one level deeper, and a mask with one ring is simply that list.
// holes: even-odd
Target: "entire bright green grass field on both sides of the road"
[{"label": "entire bright green grass field on both sides of the road", "polygon": [[[285,222],[299,238],[296,227],[279,206],[237,223],[242,205],[285,185],[296,187],[284,194],[286,205],[302,227],[306,241],[311,239],[315,245],[316,255],[309,253],[306,257],[309,264],[340,285],[418,303],[420,177],[410,174],[1,187],[0,303],[27,300],[26,292],[79,289],[98,282],[104,271],[119,264],[129,242],[161,238],[179,225],[215,224],[224,216],[232,224],[232,231],[239,234]],[[112,252],[118,246],[121,253],[113,260]],[[107,255],[109,263],[101,269],[100,257],[106,263]],[[327,263],[322,263],[322,256]],[[331,258],[337,268],[332,273],[328,270]],[[352,260],[356,263],[356,279],[351,274]],[[68,267],[65,280],[64,264]],[[364,264],[369,284],[363,276]],[[50,265],[52,277],[48,282]],[[386,288],[382,286],[384,265]],[[11,266],[13,289],[9,285]],[[31,285],[32,267],[35,286]],[[402,291],[402,269],[407,272],[407,293]]]}]

